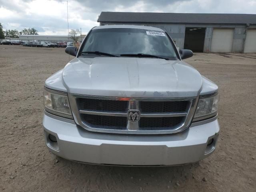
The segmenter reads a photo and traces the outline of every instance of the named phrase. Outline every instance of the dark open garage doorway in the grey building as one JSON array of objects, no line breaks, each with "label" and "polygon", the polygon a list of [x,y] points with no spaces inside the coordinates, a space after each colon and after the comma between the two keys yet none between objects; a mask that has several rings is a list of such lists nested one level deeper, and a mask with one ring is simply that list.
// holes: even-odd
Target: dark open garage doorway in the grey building
[{"label": "dark open garage doorway in the grey building", "polygon": [[186,27],[184,49],[190,49],[193,52],[203,52],[205,31],[206,28]]}]

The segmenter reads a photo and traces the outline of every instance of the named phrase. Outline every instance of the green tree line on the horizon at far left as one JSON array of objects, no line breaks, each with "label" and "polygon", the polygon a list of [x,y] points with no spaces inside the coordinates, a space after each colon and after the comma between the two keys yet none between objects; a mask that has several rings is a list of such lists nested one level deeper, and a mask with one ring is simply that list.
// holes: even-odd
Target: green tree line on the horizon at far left
[{"label": "green tree line on the horizon at far left", "polygon": [[19,38],[19,35],[38,35],[38,30],[36,30],[35,28],[24,28],[23,30],[21,30],[20,32],[16,29],[14,30],[3,30],[3,26],[0,23],[0,39],[4,39],[6,37],[9,38]]}]

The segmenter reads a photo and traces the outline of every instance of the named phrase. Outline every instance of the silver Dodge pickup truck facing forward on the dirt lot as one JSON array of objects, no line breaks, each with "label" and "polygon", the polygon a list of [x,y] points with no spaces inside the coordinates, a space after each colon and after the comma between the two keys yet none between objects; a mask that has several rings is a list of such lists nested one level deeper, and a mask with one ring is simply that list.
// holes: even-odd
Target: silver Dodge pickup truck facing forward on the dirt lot
[{"label": "silver Dodge pickup truck facing forward on the dirt lot", "polygon": [[214,152],[218,86],[182,60],[162,29],[92,28],[45,82],[46,146],[76,162],[168,166]]}]

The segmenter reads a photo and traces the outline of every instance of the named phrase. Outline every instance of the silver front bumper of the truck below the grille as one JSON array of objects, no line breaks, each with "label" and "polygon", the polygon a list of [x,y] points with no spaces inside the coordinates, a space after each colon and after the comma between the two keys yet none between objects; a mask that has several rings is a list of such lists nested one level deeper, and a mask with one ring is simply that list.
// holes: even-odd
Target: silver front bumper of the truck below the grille
[{"label": "silver front bumper of the truck below the grille", "polygon": [[[46,146],[57,156],[91,164],[168,166],[197,162],[214,152],[220,130],[216,117],[192,123],[183,132],[165,135],[90,132],[73,120],[64,120],[67,121],[45,112]],[[52,142],[49,134],[57,142]],[[211,139],[212,144],[207,146]]]}]

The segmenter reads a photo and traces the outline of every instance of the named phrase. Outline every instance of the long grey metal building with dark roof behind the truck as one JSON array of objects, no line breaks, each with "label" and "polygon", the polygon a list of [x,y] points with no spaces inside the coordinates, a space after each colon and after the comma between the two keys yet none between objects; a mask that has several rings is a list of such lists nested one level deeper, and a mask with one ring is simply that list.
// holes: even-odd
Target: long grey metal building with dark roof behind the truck
[{"label": "long grey metal building with dark roof behind the truck", "polygon": [[101,12],[98,22],[162,28],[194,52],[256,52],[256,14]]}]

